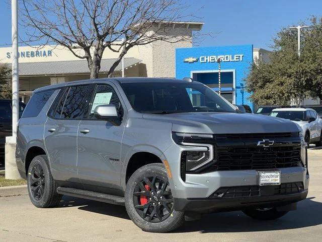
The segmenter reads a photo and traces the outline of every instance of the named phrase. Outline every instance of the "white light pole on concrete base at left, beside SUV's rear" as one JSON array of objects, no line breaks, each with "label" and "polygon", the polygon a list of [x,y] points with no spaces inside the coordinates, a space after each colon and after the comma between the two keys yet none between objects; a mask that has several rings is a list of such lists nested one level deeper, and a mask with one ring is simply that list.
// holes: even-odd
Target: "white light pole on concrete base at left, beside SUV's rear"
[{"label": "white light pole on concrete base at left, beside SUV's rear", "polygon": [[12,136],[6,137],[6,179],[19,179],[16,163],[17,123],[19,119],[19,75],[18,75],[18,1],[11,0],[12,30]]}]

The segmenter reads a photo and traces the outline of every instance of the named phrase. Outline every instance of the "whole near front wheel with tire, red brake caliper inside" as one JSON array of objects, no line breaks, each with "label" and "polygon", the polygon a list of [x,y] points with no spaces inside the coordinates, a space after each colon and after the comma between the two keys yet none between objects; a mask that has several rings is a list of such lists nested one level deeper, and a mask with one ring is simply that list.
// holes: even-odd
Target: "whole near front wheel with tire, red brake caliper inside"
[{"label": "whole near front wheel with tire, red brake caliper inside", "polygon": [[159,163],[144,165],[132,174],[125,207],[131,220],[147,232],[169,232],[185,221],[184,212],[174,210],[167,171]]}]

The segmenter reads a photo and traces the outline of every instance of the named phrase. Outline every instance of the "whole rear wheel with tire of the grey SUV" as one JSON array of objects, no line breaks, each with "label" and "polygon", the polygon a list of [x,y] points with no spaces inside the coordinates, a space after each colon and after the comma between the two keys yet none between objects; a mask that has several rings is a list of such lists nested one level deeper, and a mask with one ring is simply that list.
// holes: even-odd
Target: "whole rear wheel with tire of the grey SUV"
[{"label": "whole rear wheel with tire of the grey SUV", "polygon": [[61,195],[57,194],[46,155],[38,155],[31,161],[27,173],[27,186],[30,201],[37,208],[49,208],[59,204]]}]

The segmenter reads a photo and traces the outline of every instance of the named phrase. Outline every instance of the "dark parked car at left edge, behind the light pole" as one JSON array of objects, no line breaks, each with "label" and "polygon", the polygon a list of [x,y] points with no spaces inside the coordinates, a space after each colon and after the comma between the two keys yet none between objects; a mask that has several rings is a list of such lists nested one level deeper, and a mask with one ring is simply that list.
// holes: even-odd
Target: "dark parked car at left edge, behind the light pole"
[{"label": "dark parked car at left edge, behind the light pole", "polygon": [[[20,102],[19,117],[26,104]],[[0,168],[5,166],[6,136],[12,136],[12,100],[0,99]]]}]

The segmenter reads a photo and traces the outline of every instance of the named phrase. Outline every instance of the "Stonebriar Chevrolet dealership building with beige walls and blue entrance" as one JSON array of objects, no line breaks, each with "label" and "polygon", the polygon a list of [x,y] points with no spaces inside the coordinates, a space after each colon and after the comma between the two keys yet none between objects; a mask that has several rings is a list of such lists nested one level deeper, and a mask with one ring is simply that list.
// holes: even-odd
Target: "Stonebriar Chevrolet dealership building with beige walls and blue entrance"
[{"label": "Stonebriar Chevrolet dealership building with beige walls and blue entrance", "polygon": [[[169,24],[168,24],[169,25]],[[234,104],[253,104],[244,88],[244,79],[255,58],[268,61],[269,51],[253,45],[193,47],[194,31],[202,29],[202,22],[172,22],[167,34],[184,37],[169,43],[156,41],[132,47],[124,58],[125,77],[192,77],[218,91],[218,63],[221,61],[221,94]],[[160,25],[154,28],[162,27]],[[151,30],[153,31],[153,29]],[[187,41],[188,40],[188,41]],[[189,41],[190,40],[190,41]],[[79,50],[81,53],[82,50]],[[105,49],[100,78],[106,77],[118,53]],[[11,47],[0,48],[0,62],[12,62]],[[121,62],[122,63],[122,62]],[[122,64],[114,77],[122,76]],[[19,47],[19,94],[27,102],[36,88],[89,78],[88,64],[62,46]]]}]

